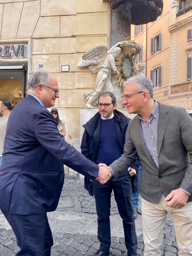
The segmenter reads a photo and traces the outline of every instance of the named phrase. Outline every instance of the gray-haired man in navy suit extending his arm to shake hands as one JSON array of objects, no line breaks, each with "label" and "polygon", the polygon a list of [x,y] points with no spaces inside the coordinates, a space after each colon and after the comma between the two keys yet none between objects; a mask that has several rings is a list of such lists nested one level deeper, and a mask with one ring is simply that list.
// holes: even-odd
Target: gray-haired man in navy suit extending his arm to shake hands
[{"label": "gray-haired man in navy suit extending his arm to shake hands", "polygon": [[12,227],[18,256],[50,256],[53,244],[47,212],[58,205],[64,168],[106,182],[111,173],[68,144],[46,109],[59,98],[58,82],[48,72],[32,74],[28,96],[10,114],[0,168],[0,209]]}]

